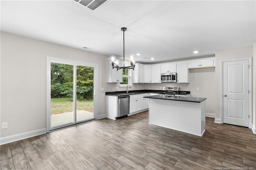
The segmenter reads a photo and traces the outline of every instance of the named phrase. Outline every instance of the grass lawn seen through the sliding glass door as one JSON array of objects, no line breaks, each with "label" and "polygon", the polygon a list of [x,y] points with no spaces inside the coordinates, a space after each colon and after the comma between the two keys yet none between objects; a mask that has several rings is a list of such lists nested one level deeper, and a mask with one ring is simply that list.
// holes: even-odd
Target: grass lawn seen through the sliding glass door
[{"label": "grass lawn seen through the sliding glass door", "polygon": [[[76,101],[77,110],[85,110],[93,112],[93,99],[86,101]],[[69,98],[52,98],[51,99],[51,115],[66,113],[73,111],[73,101]]]}]

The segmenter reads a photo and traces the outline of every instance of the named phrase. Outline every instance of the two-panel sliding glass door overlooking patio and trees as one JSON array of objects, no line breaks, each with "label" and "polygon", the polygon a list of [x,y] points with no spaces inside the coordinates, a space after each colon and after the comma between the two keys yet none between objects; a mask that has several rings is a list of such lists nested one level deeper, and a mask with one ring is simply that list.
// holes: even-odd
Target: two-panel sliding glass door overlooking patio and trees
[{"label": "two-panel sliding glass door overlooking patio and trees", "polygon": [[50,62],[50,130],[92,119],[94,67]]}]

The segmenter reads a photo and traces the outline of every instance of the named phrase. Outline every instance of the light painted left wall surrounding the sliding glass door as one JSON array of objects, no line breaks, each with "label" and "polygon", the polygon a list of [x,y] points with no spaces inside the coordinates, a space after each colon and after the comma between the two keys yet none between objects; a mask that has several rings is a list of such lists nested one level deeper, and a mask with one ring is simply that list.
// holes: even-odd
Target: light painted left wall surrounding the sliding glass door
[{"label": "light painted left wall surrounding the sliding glass door", "polygon": [[[1,138],[46,128],[47,56],[98,64],[96,117],[105,116],[105,91],[118,85],[106,83],[108,56],[1,32],[0,123],[8,122],[8,128],[0,131]],[[144,89],[144,85],[138,87]]]}]

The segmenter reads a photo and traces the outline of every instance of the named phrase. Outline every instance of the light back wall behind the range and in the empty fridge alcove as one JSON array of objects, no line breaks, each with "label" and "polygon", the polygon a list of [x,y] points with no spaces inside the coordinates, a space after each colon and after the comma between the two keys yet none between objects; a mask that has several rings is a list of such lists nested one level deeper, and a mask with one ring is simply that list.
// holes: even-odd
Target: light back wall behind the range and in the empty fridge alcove
[{"label": "light back wall behind the range and in the empty fridge alcove", "polygon": [[[181,91],[190,91],[193,97],[206,97],[206,113],[215,114],[215,68],[190,69],[190,83],[147,83],[145,89],[159,90],[162,87],[180,87]],[[199,87],[199,91],[196,88]]]}]

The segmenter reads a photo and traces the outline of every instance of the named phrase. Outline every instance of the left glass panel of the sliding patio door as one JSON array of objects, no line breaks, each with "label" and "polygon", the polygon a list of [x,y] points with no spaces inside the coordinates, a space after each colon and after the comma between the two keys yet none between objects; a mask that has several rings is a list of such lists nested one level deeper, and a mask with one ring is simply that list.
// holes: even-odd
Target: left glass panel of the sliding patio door
[{"label": "left glass panel of the sliding patio door", "polygon": [[74,66],[51,63],[51,128],[74,123]]}]

